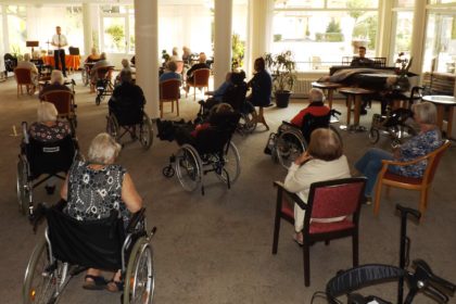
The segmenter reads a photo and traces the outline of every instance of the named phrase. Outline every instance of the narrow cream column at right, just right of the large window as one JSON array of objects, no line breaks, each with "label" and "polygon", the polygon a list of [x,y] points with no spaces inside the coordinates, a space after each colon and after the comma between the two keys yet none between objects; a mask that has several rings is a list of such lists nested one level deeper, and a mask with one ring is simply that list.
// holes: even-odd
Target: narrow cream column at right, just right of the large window
[{"label": "narrow cream column at right, just right of the large window", "polygon": [[415,4],[414,26],[411,30],[411,50],[410,56],[414,58],[410,72],[418,75],[422,69],[422,58],[425,55],[425,36],[426,36],[426,5]]}]

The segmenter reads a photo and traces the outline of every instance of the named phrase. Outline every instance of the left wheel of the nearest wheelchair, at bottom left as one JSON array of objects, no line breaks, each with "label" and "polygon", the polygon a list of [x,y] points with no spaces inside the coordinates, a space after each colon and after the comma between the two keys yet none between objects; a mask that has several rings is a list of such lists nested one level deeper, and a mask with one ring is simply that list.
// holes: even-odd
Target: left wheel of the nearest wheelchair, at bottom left
[{"label": "left wheel of the nearest wheelchair, at bottom left", "polygon": [[23,303],[55,303],[62,286],[62,264],[50,262],[48,242],[40,239],[31,253],[25,270]]}]

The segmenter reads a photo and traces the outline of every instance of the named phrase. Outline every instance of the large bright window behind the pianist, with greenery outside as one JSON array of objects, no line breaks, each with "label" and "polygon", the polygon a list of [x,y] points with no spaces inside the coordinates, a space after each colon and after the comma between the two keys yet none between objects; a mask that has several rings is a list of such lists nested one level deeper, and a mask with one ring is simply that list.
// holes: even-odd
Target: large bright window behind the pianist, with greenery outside
[{"label": "large bright window behind the pianist, with greenery outside", "polygon": [[297,69],[325,69],[365,46],[376,55],[377,0],[276,0],[273,52],[291,50]]}]

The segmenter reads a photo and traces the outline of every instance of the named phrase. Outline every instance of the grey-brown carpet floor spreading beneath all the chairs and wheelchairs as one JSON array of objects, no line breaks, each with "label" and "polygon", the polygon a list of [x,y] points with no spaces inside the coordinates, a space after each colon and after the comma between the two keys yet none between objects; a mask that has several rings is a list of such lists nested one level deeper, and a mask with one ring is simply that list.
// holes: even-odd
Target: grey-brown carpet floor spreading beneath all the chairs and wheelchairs
[{"label": "grey-brown carpet floor spreading beneath all the chairs and wheelchairs", "polygon": [[[105,129],[106,102],[94,104],[94,94],[75,77],[78,104],[77,136],[84,153],[90,140]],[[17,212],[15,193],[16,162],[20,136],[13,136],[13,126],[20,129],[23,121],[34,122],[38,98],[16,97],[13,78],[0,84],[1,157],[0,157],[0,302],[22,303],[22,282],[27,261],[43,226],[34,235],[27,219]],[[266,119],[275,131],[282,119],[291,118],[307,100],[292,100],[287,109],[269,107]],[[174,119],[166,105],[165,118]],[[195,116],[198,104],[192,98],[180,101],[181,117]],[[345,118],[345,103],[337,100],[334,106]],[[379,112],[373,104],[362,125],[369,126],[371,114]],[[338,124],[335,124],[338,126]],[[154,303],[311,303],[314,292],[325,290],[326,282],[339,269],[350,268],[352,261],[350,239],[311,250],[311,287],[303,281],[302,250],[292,241],[293,227],[283,223],[277,255],[271,254],[276,190],[274,180],[283,180],[286,170],[263,153],[269,131],[263,126],[249,136],[236,135],[233,142],[241,155],[241,175],[228,190],[216,177],[206,177],[205,195],[200,191],[186,192],[176,177],[162,175],[168,157],[178,149],[175,142],[154,142],[143,151],[138,142],[125,147],[118,159],[131,174],[144,199],[149,226],[156,226],[153,238],[156,268]],[[344,151],[350,164],[370,147],[366,132],[341,131]],[[389,139],[382,138],[376,147],[389,149]],[[410,258],[426,259],[434,271],[456,281],[456,150],[451,148],[443,157],[429,195],[429,208],[420,225],[409,224]],[[53,203],[43,187],[34,190],[36,202]],[[380,215],[375,217],[372,206],[363,206],[359,231],[359,262],[398,264],[400,218],[394,206],[418,206],[418,193],[392,189],[382,195]],[[110,274],[106,277],[110,278]],[[61,303],[118,303],[118,293],[81,289],[84,276],[76,277],[62,294]],[[395,284],[368,289],[367,293],[395,301]],[[325,303],[317,300],[315,303]],[[433,303],[420,295],[416,303]],[[456,300],[451,301],[456,303]]]}]

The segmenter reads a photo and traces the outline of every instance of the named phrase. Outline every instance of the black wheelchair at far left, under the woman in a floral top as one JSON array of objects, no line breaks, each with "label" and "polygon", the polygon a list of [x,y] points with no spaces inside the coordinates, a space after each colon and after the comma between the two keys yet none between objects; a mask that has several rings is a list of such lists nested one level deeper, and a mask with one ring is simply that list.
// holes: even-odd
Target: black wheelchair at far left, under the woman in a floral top
[{"label": "black wheelchair at far left, under the woman in a floral top", "polygon": [[[28,136],[27,123],[22,123],[24,135],[21,143],[16,172],[16,192],[18,210],[22,214],[34,206],[34,189],[56,177],[65,179],[59,173],[68,172],[76,157],[80,157],[78,142],[71,136],[54,142],[40,142]],[[40,179],[41,176],[45,176]]]}]

